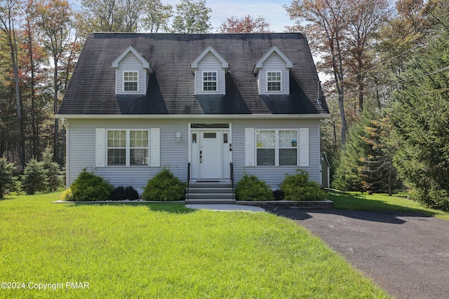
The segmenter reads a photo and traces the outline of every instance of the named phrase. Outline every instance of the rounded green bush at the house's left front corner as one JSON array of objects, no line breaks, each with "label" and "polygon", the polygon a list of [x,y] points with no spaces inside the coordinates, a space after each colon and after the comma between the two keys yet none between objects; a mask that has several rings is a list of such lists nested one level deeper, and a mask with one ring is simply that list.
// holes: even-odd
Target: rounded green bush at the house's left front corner
[{"label": "rounded green bush at the house's left front corner", "polygon": [[114,186],[93,172],[83,170],[70,186],[75,202],[97,202],[109,200]]}]

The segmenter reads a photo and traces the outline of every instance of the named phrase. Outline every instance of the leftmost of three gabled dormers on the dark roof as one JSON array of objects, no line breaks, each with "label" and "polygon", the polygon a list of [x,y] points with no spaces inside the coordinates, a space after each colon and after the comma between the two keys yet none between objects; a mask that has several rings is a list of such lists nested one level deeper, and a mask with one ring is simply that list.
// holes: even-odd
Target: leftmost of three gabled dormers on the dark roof
[{"label": "leftmost of three gabled dormers on the dark roof", "polygon": [[149,75],[153,74],[149,63],[133,46],[128,46],[114,62],[116,69],[116,95],[146,95]]}]

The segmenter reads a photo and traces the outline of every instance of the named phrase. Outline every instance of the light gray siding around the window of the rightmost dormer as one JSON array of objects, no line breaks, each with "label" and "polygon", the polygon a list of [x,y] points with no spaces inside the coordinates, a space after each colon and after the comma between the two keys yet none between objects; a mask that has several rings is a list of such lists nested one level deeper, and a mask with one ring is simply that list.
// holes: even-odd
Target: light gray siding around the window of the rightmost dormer
[{"label": "light gray siding around the window of the rightmost dormer", "polygon": [[[267,92],[267,71],[281,71],[281,91]],[[259,79],[258,87],[260,95],[288,95],[290,92],[290,85],[288,82],[288,69],[286,62],[277,53],[272,53],[267,60],[262,64],[262,69],[259,70],[257,76]]]}]

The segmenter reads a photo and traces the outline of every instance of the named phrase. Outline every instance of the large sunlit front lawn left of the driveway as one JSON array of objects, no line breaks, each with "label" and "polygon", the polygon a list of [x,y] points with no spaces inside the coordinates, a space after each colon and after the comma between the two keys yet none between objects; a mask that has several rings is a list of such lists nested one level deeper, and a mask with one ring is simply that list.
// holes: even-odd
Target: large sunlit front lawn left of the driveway
[{"label": "large sunlit front lawn left of the driveway", "polygon": [[286,218],[176,203],[51,204],[59,196],[0,200],[0,282],[63,286],[0,289],[0,298],[387,297]]}]

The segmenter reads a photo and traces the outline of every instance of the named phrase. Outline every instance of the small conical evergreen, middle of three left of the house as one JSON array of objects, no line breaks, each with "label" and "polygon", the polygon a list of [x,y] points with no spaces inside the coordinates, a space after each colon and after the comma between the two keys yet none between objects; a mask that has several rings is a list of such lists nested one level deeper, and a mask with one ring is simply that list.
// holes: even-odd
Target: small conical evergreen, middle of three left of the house
[{"label": "small conical evergreen, middle of three left of the house", "polygon": [[22,189],[28,195],[48,190],[47,175],[48,170],[43,168],[41,162],[36,159],[29,160],[21,177]]}]

